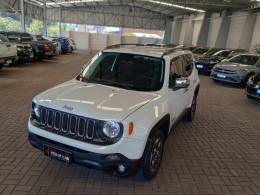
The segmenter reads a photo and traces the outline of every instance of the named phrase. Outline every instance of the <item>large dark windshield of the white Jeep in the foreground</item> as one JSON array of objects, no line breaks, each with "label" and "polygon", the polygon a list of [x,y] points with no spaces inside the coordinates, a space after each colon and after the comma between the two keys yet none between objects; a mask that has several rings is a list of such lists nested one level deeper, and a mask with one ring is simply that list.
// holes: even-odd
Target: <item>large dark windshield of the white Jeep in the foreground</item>
[{"label": "large dark windshield of the white Jeep in the foreground", "polygon": [[137,91],[158,91],[163,79],[161,58],[107,52],[96,55],[80,75],[81,81]]}]

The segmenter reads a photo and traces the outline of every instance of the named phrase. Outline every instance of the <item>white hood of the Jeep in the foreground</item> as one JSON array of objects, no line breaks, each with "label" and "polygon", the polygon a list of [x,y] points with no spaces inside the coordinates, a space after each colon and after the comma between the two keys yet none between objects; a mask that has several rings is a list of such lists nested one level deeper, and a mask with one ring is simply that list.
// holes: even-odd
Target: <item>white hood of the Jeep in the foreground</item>
[{"label": "white hood of the Jeep in the foreground", "polygon": [[101,84],[68,81],[34,98],[48,108],[100,120],[122,121],[159,95]]}]

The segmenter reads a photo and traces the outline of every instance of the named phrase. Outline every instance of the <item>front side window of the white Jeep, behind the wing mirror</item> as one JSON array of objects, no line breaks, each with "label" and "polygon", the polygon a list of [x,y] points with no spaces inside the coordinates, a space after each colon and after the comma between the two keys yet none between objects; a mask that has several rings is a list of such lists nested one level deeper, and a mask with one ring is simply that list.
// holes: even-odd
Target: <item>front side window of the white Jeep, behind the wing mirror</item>
[{"label": "front side window of the white Jeep, behind the wing mirror", "polygon": [[175,84],[176,78],[185,76],[184,59],[182,56],[174,58],[170,65],[169,87],[172,88]]}]

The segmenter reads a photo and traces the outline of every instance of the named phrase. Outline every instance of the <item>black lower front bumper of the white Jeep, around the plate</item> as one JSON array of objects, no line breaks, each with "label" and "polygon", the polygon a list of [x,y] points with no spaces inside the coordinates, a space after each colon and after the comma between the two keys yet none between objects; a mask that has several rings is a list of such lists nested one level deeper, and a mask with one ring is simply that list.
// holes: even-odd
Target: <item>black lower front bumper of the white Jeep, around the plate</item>
[{"label": "black lower front bumper of the white Jeep, around the plate", "polygon": [[[39,135],[29,132],[29,142],[35,148],[43,151],[44,145],[68,151],[72,154],[72,162],[81,164],[83,166],[90,166],[105,170],[110,174],[117,176],[126,176],[136,173],[141,165],[142,159],[130,160],[122,154],[98,154],[85,150],[81,150],[69,145],[56,142]],[[118,166],[124,165],[126,170],[124,172],[118,171]]]}]

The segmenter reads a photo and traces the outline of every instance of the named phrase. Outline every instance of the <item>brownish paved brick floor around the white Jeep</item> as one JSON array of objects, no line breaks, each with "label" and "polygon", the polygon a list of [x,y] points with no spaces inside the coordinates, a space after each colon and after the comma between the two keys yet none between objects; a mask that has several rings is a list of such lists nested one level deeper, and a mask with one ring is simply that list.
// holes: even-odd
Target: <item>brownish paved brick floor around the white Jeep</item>
[{"label": "brownish paved brick floor around the white Jeep", "polygon": [[73,78],[83,53],[0,70],[0,194],[260,194],[260,103],[201,76],[197,116],[167,140],[151,182],[50,160],[27,141],[32,97]]}]

